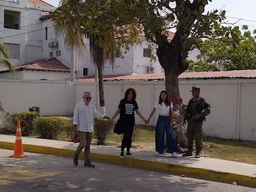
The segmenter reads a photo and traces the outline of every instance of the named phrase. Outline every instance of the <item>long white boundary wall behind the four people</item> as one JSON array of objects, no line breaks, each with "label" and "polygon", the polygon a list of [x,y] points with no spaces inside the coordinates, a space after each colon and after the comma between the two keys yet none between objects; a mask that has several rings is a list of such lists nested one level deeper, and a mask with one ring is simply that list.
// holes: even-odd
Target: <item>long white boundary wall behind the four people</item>
[{"label": "long white boundary wall behind the four people", "polygon": [[[256,80],[180,80],[184,104],[191,98],[192,86],[201,88],[201,96],[211,104],[211,114],[203,123],[206,135],[256,141]],[[135,88],[140,112],[147,118],[158,100],[164,81],[105,82],[106,114],[114,114],[127,88]],[[98,85],[95,82],[0,80],[0,99],[11,114],[40,107],[41,115],[72,115],[82,101],[83,91],[90,91],[92,104],[100,111]],[[155,125],[157,113],[151,120]],[[143,124],[136,115],[136,123]]]}]

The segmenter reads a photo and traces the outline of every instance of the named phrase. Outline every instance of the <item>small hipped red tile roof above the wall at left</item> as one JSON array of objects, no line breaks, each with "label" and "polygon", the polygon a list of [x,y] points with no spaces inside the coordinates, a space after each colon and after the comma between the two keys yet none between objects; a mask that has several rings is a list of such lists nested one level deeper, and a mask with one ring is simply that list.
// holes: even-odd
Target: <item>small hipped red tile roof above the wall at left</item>
[{"label": "small hipped red tile roof above the wall at left", "polygon": [[[52,59],[43,59],[40,61],[34,61],[29,64],[19,65],[16,70],[42,70],[42,71],[54,71],[54,72],[69,72],[70,69],[66,65],[62,64],[55,57]],[[6,73],[9,70],[0,70],[0,73]]]}]

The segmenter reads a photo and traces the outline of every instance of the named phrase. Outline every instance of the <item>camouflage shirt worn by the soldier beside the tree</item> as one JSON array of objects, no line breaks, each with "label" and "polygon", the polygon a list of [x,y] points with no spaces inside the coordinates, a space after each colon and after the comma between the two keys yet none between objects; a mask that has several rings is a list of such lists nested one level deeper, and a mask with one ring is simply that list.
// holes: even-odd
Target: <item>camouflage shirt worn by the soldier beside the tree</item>
[{"label": "camouflage shirt worn by the soldier beside the tree", "polygon": [[205,120],[205,116],[210,114],[210,104],[208,104],[203,98],[192,98],[189,100],[189,104],[187,104],[186,114],[184,115],[184,119],[190,119],[192,115],[198,114],[198,121]]}]

